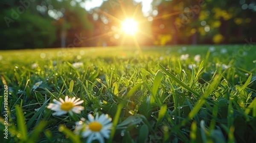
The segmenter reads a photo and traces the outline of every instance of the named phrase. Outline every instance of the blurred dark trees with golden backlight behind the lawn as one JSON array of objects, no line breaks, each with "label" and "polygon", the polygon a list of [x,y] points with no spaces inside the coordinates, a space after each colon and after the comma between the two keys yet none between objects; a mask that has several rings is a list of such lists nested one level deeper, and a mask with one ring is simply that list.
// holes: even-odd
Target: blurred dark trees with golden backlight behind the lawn
[{"label": "blurred dark trees with golden backlight behind the lawn", "polygon": [[[2,0],[0,49],[256,41],[256,0],[151,1],[142,11],[143,0]],[[126,17],[135,36],[120,30]]]}]

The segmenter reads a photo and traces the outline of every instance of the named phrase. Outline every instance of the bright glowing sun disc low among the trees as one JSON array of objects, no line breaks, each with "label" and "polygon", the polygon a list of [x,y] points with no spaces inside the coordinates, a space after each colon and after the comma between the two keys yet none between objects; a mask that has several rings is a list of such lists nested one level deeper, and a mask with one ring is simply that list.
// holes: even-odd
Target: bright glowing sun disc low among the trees
[{"label": "bright glowing sun disc low among the trees", "polygon": [[138,23],[133,19],[127,18],[122,22],[122,30],[126,34],[134,35],[138,30]]}]

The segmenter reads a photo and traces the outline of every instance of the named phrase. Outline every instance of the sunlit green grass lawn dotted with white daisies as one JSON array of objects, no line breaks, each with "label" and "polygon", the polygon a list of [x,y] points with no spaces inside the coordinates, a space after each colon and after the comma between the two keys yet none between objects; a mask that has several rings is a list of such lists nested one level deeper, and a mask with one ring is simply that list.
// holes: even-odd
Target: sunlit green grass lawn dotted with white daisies
[{"label": "sunlit green grass lawn dotted with white daisies", "polygon": [[255,143],[255,48],[0,51],[1,142]]}]

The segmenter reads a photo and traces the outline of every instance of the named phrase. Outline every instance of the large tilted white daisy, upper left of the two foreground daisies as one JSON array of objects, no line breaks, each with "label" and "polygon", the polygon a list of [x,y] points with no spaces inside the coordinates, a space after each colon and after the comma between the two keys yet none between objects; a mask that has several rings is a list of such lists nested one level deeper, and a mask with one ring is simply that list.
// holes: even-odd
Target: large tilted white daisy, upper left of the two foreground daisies
[{"label": "large tilted white daisy, upper left of the two foreground daisies", "polygon": [[83,103],[84,100],[79,101],[80,98],[78,98],[77,100],[75,99],[76,97],[69,98],[68,96],[65,97],[65,101],[61,98],[59,98],[60,101],[53,99],[54,103],[50,103],[47,108],[55,111],[54,113],[52,113],[52,115],[56,116],[67,113],[73,115],[73,112],[79,114],[82,110],[84,110],[84,107],[78,105]]}]

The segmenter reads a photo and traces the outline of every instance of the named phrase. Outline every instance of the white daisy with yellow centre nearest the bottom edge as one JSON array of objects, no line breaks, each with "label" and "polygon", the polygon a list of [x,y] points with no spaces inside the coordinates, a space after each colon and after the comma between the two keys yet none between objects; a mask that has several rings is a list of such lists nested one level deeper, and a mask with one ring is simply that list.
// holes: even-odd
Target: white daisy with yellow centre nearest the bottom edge
[{"label": "white daisy with yellow centre nearest the bottom edge", "polygon": [[109,138],[109,134],[111,132],[112,123],[111,117],[108,117],[108,114],[101,114],[99,116],[96,113],[96,117],[94,118],[92,114],[88,114],[88,120],[84,122],[83,119],[81,121],[76,122],[76,134],[81,134],[82,137],[87,137],[86,143],[91,143],[93,140],[98,140],[99,143],[104,143],[104,138]]}]

